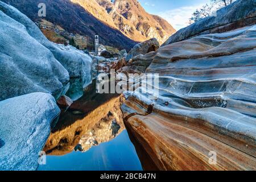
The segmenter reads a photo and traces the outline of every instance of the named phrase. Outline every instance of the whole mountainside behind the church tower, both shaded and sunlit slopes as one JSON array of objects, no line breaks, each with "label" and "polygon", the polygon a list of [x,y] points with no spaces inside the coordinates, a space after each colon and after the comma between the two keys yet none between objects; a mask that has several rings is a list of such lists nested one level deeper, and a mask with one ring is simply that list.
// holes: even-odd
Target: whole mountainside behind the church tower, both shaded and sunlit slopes
[{"label": "whole mountainside behind the church tower, both shaded and sunlit slopes", "polygon": [[63,27],[68,32],[88,36],[93,44],[94,35],[107,46],[129,51],[135,42],[156,38],[162,44],[175,30],[164,19],[150,15],[138,1],[110,0],[3,0],[13,5],[32,20],[38,17],[38,4],[45,3],[44,19]]}]

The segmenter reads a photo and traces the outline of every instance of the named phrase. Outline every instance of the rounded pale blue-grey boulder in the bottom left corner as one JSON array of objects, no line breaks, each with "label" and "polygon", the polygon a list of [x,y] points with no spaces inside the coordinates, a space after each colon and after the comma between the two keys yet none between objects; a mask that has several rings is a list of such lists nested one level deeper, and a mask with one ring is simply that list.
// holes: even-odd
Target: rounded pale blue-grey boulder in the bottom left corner
[{"label": "rounded pale blue-grey boulder in the bottom left corner", "polygon": [[35,170],[60,109],[46,93],[0,102],[0,170]]}]

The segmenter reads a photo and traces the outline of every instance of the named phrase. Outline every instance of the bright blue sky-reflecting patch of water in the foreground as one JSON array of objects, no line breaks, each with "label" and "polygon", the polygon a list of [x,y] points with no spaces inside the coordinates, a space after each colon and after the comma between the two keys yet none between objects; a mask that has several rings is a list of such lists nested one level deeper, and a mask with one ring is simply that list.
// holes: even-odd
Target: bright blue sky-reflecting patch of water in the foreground
[{"label": "bright blue sky-reflecting patch of water in the foreground", "polygon": [[125,171],[142,170],[133,143],[124,130],[113,140],[93,146],[86,152],[71,152],[63,156],[47,155],[46,165],[39,171]]}]

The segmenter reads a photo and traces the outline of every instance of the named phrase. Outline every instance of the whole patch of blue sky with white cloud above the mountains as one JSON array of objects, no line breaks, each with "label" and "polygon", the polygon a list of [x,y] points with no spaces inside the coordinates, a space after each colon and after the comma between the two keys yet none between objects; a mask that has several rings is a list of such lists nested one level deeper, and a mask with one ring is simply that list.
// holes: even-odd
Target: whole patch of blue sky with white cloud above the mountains
[{"label": "whole patch of blue sky with white cloud above the mountains", "polygon": [[162,16],[179,30],[188,26],[193,11],[209,3],[210,0],[138,0],[150,13]]}]

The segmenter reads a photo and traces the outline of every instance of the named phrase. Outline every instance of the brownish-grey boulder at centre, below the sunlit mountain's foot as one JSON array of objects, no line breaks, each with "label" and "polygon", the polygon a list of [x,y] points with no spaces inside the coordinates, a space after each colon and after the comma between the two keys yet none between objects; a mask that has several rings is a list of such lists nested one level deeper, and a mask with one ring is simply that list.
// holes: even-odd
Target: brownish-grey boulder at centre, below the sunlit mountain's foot
[{"label": "brownish-grey boulder at centre, below the sunlit mountain's foot", "polygon": [[158,48],[159,42],[155,38],[136,44],[126,56],[126,61],[133,59],[135,56],[146,55],[148,52],[156,51]]}]

